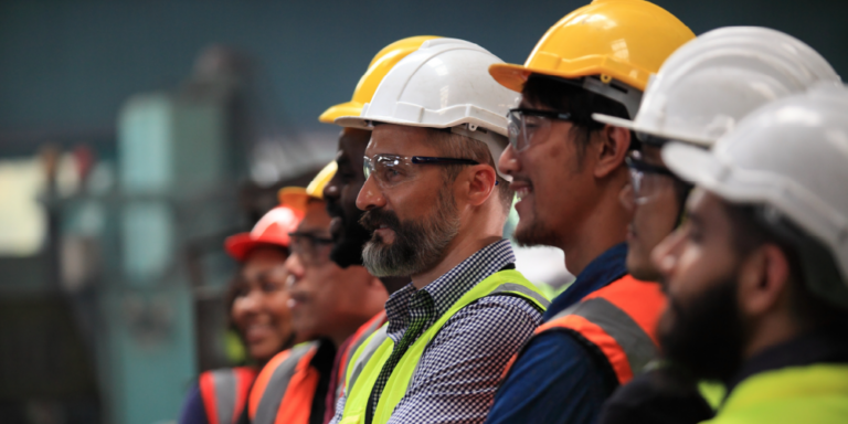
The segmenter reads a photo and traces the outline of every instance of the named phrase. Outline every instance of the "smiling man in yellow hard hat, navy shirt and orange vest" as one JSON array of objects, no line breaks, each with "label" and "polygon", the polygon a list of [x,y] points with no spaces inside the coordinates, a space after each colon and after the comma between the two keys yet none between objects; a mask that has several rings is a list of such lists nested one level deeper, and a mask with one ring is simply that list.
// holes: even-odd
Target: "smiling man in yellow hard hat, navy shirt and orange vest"
[{"label": "smiling man in yellow hard hat, navy shirt and orange vest", "polygon": [[650,74],[695,34],[643,0],[595,0],[542,36],[524,65],[489,73],[521,93],[498,163],[520,201],[516,240],[563,250],[576,282],[517,356],[487,423],[591,423],[657,351],[666,298],[627,273],[630,131],[593,113],[633,118]]}]

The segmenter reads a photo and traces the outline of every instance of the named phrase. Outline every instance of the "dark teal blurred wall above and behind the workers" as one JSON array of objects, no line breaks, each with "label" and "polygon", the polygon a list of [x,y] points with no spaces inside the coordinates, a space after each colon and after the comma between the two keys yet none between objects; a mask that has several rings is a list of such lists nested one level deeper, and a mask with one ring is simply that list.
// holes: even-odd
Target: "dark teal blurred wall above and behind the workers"
[{"label": "dark teal blurred wall above and behind the workers", "polygon": [[[424,33],[457,36],[522,62],[552,23],[585,1],[6,0],[0,2],[0,134],[112,127],[128,96],[178,84],[212,42],[258,59],[271,120],[317,126],[318,114],[348,99],[371,56],[391,41]],[[848,1],[657,3],[696,33],[730,24],[786,31],[848,75]]]}]

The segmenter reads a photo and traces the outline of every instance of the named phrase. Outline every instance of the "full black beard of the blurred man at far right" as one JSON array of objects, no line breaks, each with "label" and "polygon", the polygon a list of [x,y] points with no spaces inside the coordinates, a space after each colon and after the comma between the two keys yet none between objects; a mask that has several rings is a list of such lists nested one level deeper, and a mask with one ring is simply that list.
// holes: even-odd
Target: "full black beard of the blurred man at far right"
[{"label": "full black beard of the blurred man at far right", "polygon": [[[682,308],[669,297],[670,327],[660,326],[666,357],[699,379],[728,381],[742,362],[744,330],[736,303],[736,273]],[[662,321],[669,319],[669,311]]]}]

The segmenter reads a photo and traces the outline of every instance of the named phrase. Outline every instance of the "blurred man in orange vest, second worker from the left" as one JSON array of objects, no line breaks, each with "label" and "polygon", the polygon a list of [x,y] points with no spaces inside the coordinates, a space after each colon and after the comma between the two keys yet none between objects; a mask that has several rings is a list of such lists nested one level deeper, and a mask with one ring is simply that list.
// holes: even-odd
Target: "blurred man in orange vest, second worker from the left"
[{"label": "blurred man in orange vest, second worker from the left", "polygon": [[248,399],[251,423],[322,422],[337,347],[388,298],[383,285],[364,267],[340,268],[329,258],[330,218],[320,197],[333,171],[325,169],[306,190],[287,188],[280,195],[285,204],[305,210],[297,231],[290,233],[286,267],[293,327],[299,338],[314,341],[278,353],[263,368]]}]

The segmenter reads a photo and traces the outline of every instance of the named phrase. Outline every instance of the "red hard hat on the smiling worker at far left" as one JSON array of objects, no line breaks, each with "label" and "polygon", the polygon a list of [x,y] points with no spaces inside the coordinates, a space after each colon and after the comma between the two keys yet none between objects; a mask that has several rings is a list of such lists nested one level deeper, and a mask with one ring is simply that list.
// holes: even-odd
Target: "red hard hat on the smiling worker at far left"
[{"label": "red hard hat on the smiling worker at far left", "polygon": [[289,206],[272,209],[253,226],[250,233],[226,237],[224,248],[234,259],[242,262],[252,250],[263,245],[288,247],[288,233],[297,230],[304,212]]}]

